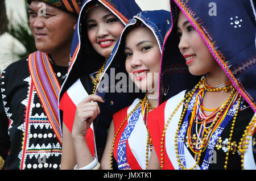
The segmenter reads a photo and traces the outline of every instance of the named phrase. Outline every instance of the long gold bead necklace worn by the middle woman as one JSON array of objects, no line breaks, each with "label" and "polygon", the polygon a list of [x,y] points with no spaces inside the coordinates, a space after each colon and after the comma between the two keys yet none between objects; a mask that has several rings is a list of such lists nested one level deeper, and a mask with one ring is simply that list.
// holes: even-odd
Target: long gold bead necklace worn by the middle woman
[{"label": "long gold bead necklace worn by the middle woman", "polygon": [[[125,120],[122,121],[122,123],[119,125],[118,129],[117,129],[117,132],[115,132],[114,134],[114,138],[113,138],[113,141],[112,141],[112,148],[110,149],[110,168],[113,168],[113,151],[114,151],[114,144],[115,144],[115,138],[117,137],[120,129],[122,128],[123,124],[129,119],[130,116],[133,115],[133,113],[140,107],[142,106],[142,110],[143,107],[146,106],[146,113],[145,115],[143,116],[143,119],[144,119],[144,124],[146,126],[146,129],[147,129],[147,144],[146,144],[146,169],[147,169],[147,165],[148,165],[148,154],[149,154],[149,151],[151,151],[151,137],[150,137],[150,132],[148,131],[148,128],[147,128],[147,114],[149,112],[149,110],[154,110],[154,107],[151,107],[149,104],[148,104],[148,101],[147,101],[147,94],[146,96],[144,97],[144,99],[140,99],[140,102],[137,104],[137,106],[134,107],[134,109],[126,116]],[[143,114],[143,113],[142,113]]]}]

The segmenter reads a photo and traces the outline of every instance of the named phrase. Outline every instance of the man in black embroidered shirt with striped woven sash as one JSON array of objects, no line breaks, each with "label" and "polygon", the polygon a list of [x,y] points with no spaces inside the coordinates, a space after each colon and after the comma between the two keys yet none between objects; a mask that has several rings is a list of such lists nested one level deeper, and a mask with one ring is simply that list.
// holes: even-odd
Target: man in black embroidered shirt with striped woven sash
[{"label": "man in black embroidered shirt with striped woven sash", "polygon": [[59,169],[60,86],[82,1],[28,1],[38,51],[1,74],[0,155],[4,169]]}]

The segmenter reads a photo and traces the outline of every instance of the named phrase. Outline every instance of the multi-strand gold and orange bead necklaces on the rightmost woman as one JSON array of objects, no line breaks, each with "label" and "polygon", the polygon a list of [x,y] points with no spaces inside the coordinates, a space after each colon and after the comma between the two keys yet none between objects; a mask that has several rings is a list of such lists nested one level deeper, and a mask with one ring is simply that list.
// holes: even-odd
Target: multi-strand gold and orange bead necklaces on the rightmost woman
[{"label": "multi-strand gold and orange bead necklaces on the rightmost woman", "polygon": [[[203,85],[203,86],[202,86]],[[208,128],[204,128],[204,131],[203,131],[203,134],[201,134],[201,142],[200,142],[200,148],[199,149],[195,149],[193,147],[193,144],[191,144],[192,140],[189,141],[189,147],[191,148],[191,150],[197,155],[197,159],[196,159],[196,164],[193,165],[190,169],[194,169],[196,168],[197,165],[199,165],[199,162],[200,162],[200,157],[201,157],[201,154],[203,153],[204,149],[207,148],[207,145],[209,143],[209,138],[210,136],[212,135],[212,133],[218,128],[218,126],[220,125],[221,121],[223,120],[223,118],[225,117],[225,113],[229,110],[230,108],[230,104],[231,102],[234,102],[234,96],[235,94],[237,95],[237,92],[236,92],[236,89],[234,89],[233,86],[230,86],[230,83],[229,82],[226,82],[226,83],[223,83],[222,86],[218,86],[218,87],[209,87],[206,85],[206,82],[205,82],[205,77],[203,77],[199,83],[197,83],[197,85],[195,86],[195,88],[188,92],[188,94],[185,96],[185,98],[183,100],[181,100],[181,102],[176,106],[175,110],[171,113],[170,117],[168,118],[167,120],[167,123],[164,127],[164,130],[163,130],[163,133],[162,133],[162,138],[161,138],[161,142],[160,142],[160,167],[161,169],[163,169],[163,163],[164,163],[164,160],[163,160],[163,147],[164,147],[164,140],[165,140],[165,135],[166,135],[166,130],[168,128],[168,125],[170,123],[170,121],[172,120],[172,117],[174,116],[174,114],[176,113],[176,111],[182,107],[182,104],[185,104],[184,106],[184,110],[183,112],[181,113],[181,116],[180,116],[180,120],[179,120],[179,124],[178,124],[178,128],[175,132],[175,153],[176,153],[176,158],[177,158],[177,162],[180,166],[181,169],[183,170],[187,170],[187,168],[185,168],[182,164],[181,164],[181,160],[179,158],[179,151],[178,151],[178,144],[177,144],[177,137],[178,137],[178,134],[179,134],[179,131],[180,131],[180,128],[181,128],[181,125],[183,123],[183,118],[184,118],[184,115],[188,109],[188,104],[189,102],[191,101],[192,97],[194,96],[195,92],[199,89],[199,92],[197,92],[197,97],[201,94],[205,94],[206,91],[209,91],[209,92],[216,92],[216,91],[221,91],[221,90],[225,90],[226,92],[228,92],[229,90],[231,90],[230,92],[230,95],[229,95],[229,98],[228,100],[226,100],[226,102],[224,104],[222,104],[222,106],[220,106],[219,108],[217,108],[216,110],[213,110],[214,113],[212,113],[209,117],[212,118],[211,120],[211,124]],[[233,101],[232,101],[233,100]],[[233,117],[233,123],[232,123],[232,128],[230,130],[230,134],[229,134],[229,148],[231,147],[230,144],[231,144],[231,140],[232,140],[232,136],[233,136],[233,131],[234,131],[234,124],[236,122],[236,117],[237,117],[237,113],[238,113],[238,109],[240,107],[240,103],[241,103],[241,95],[239,95],[239,98],[238,98],[238,105],[237,105],[237,110],[236,110],[236,113]],[[191,125],[193,124],[193,121],[195,121],[195,118],[196,118],[196,114],[195,114],[195,111],[198,110],[198,108],[196,107],[198,106],[196,103],[192,109],[192,116],[191,116],[191,120],[189,121],[189,127],[188,127],[188,140],[191,139]],[[210,110],[212,111],[212,110]],[[213,116],[214,115],[214,116]],[[207,120],[207,119],[206,119]],[[204,122],[205,120],[203,120],[201,122],[201,124],[205,124]],[[226,169],[227,165],[228,165],[228,157],[229,157],[229,150],[227,151],[226,153],[226,157],[225,157],[225,166],[224,166],[224,169]]]}]

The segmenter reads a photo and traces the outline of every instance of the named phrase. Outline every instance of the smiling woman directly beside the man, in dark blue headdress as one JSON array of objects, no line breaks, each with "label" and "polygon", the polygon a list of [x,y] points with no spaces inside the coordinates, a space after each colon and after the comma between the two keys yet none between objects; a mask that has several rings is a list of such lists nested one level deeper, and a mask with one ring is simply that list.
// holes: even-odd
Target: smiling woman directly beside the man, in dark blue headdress
[{"label": "smiling woman directly beside the man, in dark blue headdress", "polygon": [[[104,104],[100,104],[100,116],[86,134],[91,154],[97,155],[100,159],[114,112],[131,104],[134,98],[128,94],[100,95],[96,87],[105,68],[105,62],[110,57],[123,28],[139,11],[141,9],[134,0],[88,0],[82,5],[73,37],[71,65],[60,91],[60,124],[63,125],[64,142],[61,169],[73,169],[76,165],[71,132],[76,110],[84,108],[82,103],[87,102],[89,107],[93,108],[98,106],[98,103],[90,103],[92,100],[102,103],[102,99],[105,99]],[[94,144],[97,152],[94,150]]]}]

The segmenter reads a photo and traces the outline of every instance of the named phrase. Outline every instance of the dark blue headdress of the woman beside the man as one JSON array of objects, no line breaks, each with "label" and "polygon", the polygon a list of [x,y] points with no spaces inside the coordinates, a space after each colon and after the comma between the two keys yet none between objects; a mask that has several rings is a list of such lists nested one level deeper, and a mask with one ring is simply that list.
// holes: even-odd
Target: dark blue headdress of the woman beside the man
[{"label": "dark blue headdress of the woman beside the man", "polygon": [[78,78],[82,77],[84,73],[97,71],[105,61],[105,58],[100,56],[100,54],[92,48],[88,36],[86,35],[84,16],[86,16],[86,11],[92,8],[93,2],[98,2],[105,6],[108,10],[113,12],[124,25],[129,22],[129,19],[132,18],[133,15],[141,11],[134,0],[84,0],[73,36],[68,76],[61,88],[59,100],[64,92],[67,91]]}]

